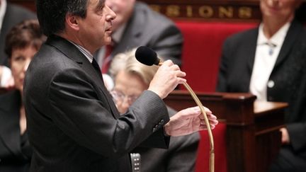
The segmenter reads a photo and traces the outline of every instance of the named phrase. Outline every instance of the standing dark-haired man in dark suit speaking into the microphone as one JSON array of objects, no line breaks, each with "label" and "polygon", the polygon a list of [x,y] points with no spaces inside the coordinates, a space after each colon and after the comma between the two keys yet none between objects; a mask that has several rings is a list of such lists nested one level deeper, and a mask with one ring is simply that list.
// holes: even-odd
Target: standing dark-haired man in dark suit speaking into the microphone
[{"label": "standing dark-haired man in dark suit speaking into the microphone", "polygon": [[186,75],[170,60],[120,116],[93,59],[111,42],[115,13],[104,0],[38,0],[36,5],[48,38],[23,87],[34,150],[30,171],[131,171],[128,152],[138,145],[166,148],[167,135],[205,129],[200,113],[169,120],[162,98]]}]

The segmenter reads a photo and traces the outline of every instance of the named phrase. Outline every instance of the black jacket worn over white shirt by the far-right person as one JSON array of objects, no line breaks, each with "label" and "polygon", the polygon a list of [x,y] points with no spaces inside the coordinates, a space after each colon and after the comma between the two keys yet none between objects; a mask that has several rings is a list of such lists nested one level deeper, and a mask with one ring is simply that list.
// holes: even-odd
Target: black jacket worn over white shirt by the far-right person
[{"label": "black jacket worn over white shirt by the far-right person", "polygon": [[[217,91],[249,92],[258,28],[227,38],[222,50]],[[280,49],[267,86],[268,101],[288,102],[285,122],[291,144],[282,149],[288,161],[306,166],[306,31],[293,21]],[[283,151],[281,151],[283,152]],[[289,156],[288,154],[293,156]],[[282,153],[283,154],[283,153]]]}]

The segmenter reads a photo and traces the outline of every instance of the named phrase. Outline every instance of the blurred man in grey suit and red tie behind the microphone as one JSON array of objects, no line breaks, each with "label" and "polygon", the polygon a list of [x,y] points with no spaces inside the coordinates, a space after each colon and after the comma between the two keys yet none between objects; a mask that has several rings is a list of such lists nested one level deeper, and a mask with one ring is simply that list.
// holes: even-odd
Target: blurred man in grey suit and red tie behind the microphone
[{"label": "blurred man in grey suit and red tie behind the microphone", "polygon": [[108,73],[115,55],[141,45],[151,47],[164,59],[181,65],[183,36],[169,18],[136,0],[106,0],[106,5],[117,16],[113,20],[112,44],[96,52],[95,58],[103,74]]}]

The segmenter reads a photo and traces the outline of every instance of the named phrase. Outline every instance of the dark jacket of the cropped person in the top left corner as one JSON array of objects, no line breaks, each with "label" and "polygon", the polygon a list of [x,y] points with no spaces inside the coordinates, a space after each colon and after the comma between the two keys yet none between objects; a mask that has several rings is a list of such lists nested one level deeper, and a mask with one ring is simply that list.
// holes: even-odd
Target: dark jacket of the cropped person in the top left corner
[{"label": "dark jacket of the cropped person in the top left corner", "polygon": [[32,11],[7,2],[6,13],[0,31],[0,65],[8,65],[8,57],[4,52],[6,34],[14,25],[33,18],[36,18],[36,15]]}]

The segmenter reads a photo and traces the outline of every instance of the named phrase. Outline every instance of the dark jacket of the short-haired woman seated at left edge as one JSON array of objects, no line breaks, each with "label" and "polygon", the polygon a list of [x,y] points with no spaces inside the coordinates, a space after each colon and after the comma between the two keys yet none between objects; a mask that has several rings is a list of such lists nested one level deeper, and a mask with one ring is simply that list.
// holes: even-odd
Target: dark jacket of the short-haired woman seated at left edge
[{"label": "dark jacket of the short-haired woman seated at left edge", "polygon": [[25,132],[21,137],[19,120],[21,95],[10,91],[0,95],[0,171],[28,171],[32,149]]}]

